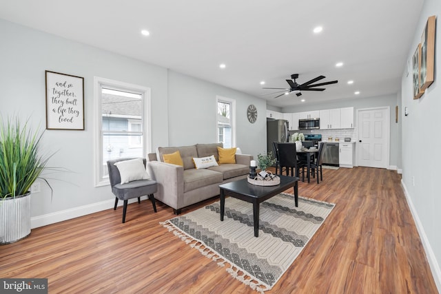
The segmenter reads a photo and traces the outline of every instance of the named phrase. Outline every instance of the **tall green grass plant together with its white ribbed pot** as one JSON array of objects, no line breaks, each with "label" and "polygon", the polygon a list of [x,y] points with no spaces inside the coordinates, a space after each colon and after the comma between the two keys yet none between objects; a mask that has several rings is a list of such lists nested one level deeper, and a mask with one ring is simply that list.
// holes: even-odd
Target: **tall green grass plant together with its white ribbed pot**
[{"label": "tall green grass plant together with its white ribbed pot", "polygon": [[51,157],[39,154],[41,136],[29,120],[0,117],[0,244],[30,234],[30,187]]}]

